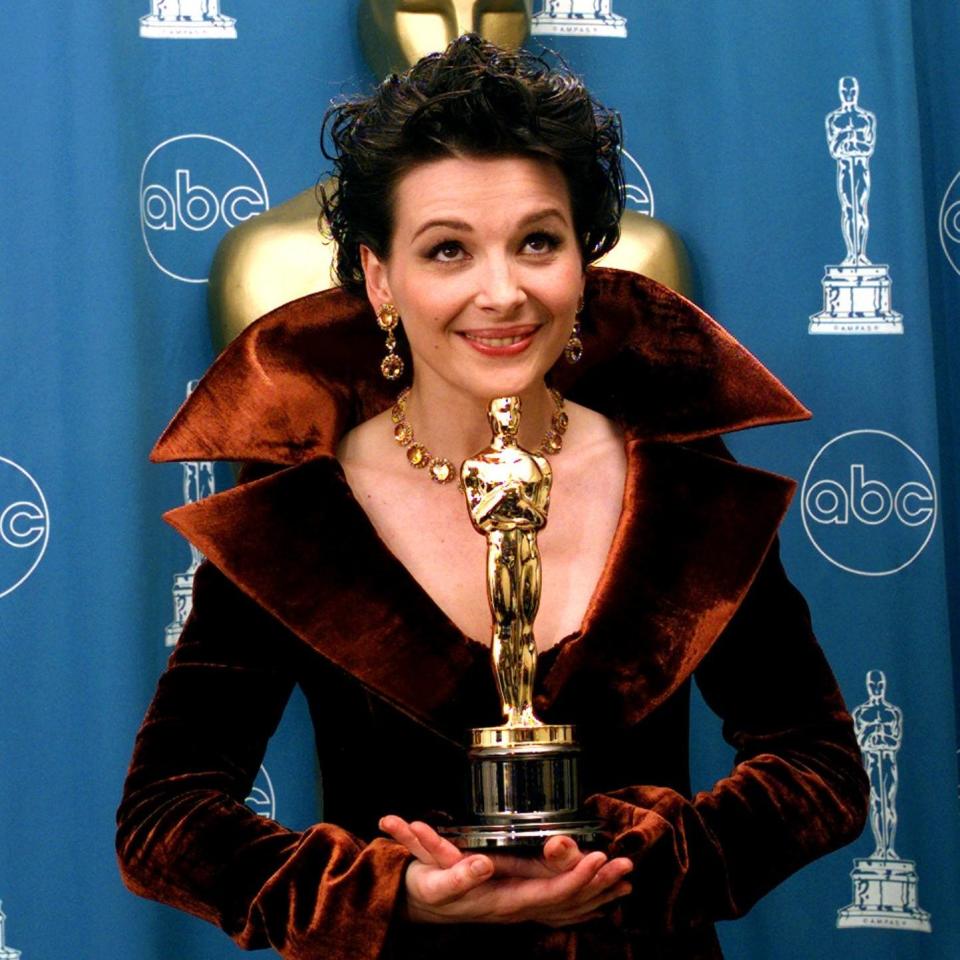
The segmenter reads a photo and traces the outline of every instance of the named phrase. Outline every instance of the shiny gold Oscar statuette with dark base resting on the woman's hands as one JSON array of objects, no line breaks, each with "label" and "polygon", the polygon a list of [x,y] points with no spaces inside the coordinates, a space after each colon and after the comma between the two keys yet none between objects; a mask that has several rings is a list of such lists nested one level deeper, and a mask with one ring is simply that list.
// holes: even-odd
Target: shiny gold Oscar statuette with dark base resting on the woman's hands
[{"label": "shiny gold Oscar statuette with dark base resting on the woman's hands", "polygon": [[520,398],[488,409],[490,446],[460,469],[470,519],[487,540],[487,599],[493,669],[503,724],[470,731],[470,819],[440,832],[461,849],[542,846],[551,836],[589,844],[600,823],[580,814],[580,748],[569,724],[533,712],[540,605],[537,534],[546,526],[553,480],[546,457],[517,443]]}]

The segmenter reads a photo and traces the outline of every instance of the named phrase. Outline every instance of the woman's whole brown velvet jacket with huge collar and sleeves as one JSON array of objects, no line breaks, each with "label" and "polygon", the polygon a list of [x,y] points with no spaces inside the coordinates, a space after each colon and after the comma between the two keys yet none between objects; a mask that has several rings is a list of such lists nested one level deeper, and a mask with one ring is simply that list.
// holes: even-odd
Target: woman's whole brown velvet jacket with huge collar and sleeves
[{"label": "woman's whole brown velvet jacket with huge collar and sleeves", "polygon": [[[635,274],[591,270],[583,326],[584,359],[555,383],[623,424],[628,475],[605,571],[581,629],[541,656],[536,705],[577,724],[588,806],[610,852],[634,860],[634,892],[566,930],[414,926],[398,909],[408,855],[377,837],[378,818],[456,810],[464,731],[499,722],[498,700],[487,647],[390,553],[334,459],[395,392],[369,307],[341,291],[251,326],[154,451],[248,466],[236,488],[167,514],[209,560],[118,812],[132,890],[290,960],[691,960],[720,956],[713,921],[859,834],[850,718],[775,546],[794,485],[717,438],[807,411]],[[693,797],[691,678],[736,751]],[[302,833],[243,803],[294,684],[326,820]]]}]

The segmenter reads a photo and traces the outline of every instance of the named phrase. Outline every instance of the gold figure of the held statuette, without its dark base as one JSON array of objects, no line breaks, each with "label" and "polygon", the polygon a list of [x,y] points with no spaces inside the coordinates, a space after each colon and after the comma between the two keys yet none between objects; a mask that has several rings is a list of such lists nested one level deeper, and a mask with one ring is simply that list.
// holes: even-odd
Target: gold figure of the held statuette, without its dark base
[{"label": "gold figure of the held statuette, without its dark base", "polygon": [[493,665],[506,726],[540,726],[533,715],[540,606],[537,533],[547,523],[553,474],[546,457],[517,445],[520,398],[498,397],[488,411],[493,440],[460,471],[470,519],[487,538],[487,598]]}]

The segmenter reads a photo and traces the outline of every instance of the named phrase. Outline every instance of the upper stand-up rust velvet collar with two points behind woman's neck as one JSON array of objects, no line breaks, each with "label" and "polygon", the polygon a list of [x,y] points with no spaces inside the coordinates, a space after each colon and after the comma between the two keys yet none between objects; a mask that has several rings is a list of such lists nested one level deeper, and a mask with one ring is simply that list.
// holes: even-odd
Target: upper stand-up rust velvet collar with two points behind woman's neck
[{"label": "upper stand-up rust velvet collar with two points behind woman's neck", "polygon": [[[553,382],[631,436],[684,442],[809,416],[722,327],[667,287],[592,268],[584,300],[583,360],[561,360]],[[402,386],[380,376],[382,355],[366,301],[335,289],[278,307],[220,355],[151,459],[289,466],[332,455],[346,430],[384,410]]]}]

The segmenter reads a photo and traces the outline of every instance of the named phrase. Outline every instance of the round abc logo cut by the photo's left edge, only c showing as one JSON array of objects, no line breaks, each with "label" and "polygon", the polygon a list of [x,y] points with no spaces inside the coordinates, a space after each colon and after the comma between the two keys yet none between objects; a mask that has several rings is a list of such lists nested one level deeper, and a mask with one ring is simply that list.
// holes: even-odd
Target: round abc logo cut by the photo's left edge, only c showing
[{"label": "round abc logo cut by the photo's left edge, only c showing", "polygon": [[0,597],[13,593],[47,549],[50,512],[36,480],[0,457]]}]

